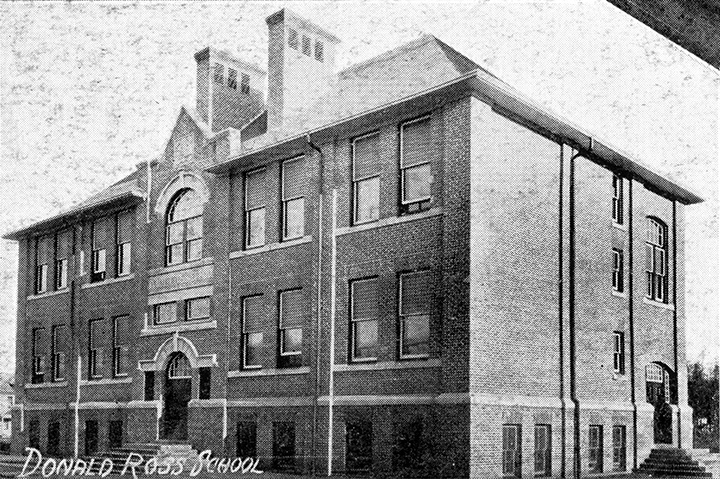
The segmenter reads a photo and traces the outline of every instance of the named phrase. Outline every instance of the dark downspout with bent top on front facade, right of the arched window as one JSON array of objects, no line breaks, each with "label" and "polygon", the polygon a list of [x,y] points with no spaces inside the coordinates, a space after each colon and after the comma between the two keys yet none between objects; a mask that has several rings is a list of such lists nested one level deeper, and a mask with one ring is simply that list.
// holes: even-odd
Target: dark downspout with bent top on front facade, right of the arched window
[{"label": "dark downspout with bent top on front facade, right of the arched window", "polygon": [[320,397],[320,335],[322,333],[322,255],[323,255],[323,236],[322,236],[322,222],[323,222],[323,177],[325,167],[325,157],[322,150],[310,140],[310,134],[306,136],[307,144],[313,150],[317,151],[320,155],[318,162],[318,263],[317,263],[317,324],[315,331],[315,391],[313,397],[313,420],[312,420],[312,431],[311,431],[311,455],[312,455],[312,466],[311,473],[315,475],[315,468],[317,464],[317,415],[318,415],[318,400]]}]

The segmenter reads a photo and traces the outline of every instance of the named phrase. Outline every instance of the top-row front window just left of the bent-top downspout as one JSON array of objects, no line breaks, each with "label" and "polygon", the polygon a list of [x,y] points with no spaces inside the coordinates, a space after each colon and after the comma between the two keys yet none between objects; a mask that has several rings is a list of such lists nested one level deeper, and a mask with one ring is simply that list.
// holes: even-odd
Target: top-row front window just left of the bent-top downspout
[{"label": "top-row front window just left of the bent-top downspout", "polygon": [[305,158],[282,164],[282,239],[301,238],[305,234]]}]

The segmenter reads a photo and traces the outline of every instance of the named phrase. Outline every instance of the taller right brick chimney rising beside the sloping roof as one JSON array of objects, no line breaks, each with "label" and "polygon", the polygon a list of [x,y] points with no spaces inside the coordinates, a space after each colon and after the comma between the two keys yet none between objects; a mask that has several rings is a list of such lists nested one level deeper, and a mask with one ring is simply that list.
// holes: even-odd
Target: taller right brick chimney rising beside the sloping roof
[{"label": "taller right brick chimney rising beside the sloping roof", "polygon": [[284,8],[268,24],[268,130],[292,129],[335,79],[340,40]]}]

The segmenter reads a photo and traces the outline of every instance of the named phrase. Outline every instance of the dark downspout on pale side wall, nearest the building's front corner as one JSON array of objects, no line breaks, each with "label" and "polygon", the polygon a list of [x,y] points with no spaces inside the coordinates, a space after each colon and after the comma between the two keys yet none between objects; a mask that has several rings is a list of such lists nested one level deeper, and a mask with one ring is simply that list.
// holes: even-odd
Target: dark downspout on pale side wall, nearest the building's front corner
[{"label": "dark downspout on pale side wall, nearest the building's front corner", "polygon": [[[592,150],[592,139],[590,139],[590,149]],[[577,397],[577,372],[576,372],[576,344],[575,344],[575,159],[580,156],[577,152],[570,157],[570,190],[568,194],[568,214],[569,218],[569,269],[568,269],[568,325],[570,328],[570,400],[575,405],[574,408],[574,456],[573,456],[573,477],[580,479],[580,400]]]}]

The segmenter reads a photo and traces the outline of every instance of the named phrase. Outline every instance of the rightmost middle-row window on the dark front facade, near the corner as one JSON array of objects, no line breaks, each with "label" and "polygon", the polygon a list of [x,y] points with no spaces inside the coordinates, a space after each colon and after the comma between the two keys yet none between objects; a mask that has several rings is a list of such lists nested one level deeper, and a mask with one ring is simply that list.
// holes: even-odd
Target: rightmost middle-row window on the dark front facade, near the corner
[{"label": "rightmost middle-row window on the dark front facade, near the corner", "polygon": [[431,294],[429,271],[400,275],[400,358],[428,356]]}]

